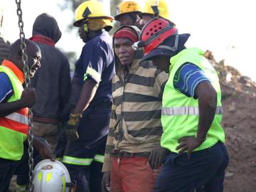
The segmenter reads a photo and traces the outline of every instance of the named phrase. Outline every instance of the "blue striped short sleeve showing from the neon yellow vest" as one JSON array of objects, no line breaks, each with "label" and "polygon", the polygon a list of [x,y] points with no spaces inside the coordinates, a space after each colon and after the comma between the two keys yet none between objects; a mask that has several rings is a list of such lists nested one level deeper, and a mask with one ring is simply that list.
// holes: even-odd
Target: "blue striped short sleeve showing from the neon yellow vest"
[{"label": "blue striped short sleeve showing from the neon yellow vest", "polygon": [[198,98],[196,87],[200,82],[209,81],[203,70],[192,63],[181,65],[174,75],[174,87],[188,97]]}]

